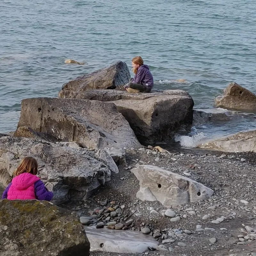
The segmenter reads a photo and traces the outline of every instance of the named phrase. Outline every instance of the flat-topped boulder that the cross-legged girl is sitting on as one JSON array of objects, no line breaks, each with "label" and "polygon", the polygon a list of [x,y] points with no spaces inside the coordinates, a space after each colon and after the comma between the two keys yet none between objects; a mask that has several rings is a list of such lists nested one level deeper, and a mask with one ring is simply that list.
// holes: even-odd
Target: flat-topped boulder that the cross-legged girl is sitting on
[{"label": "flat-topped boulder that the cross-legged girl is sitting on", "polygon": [[184,126],[192,124],[194,102],[181,90],[151,93],[128,93],[116,90],[79,92],[72,97],[86,100],[111,101],[123,114],[145,145],[169,140]]}]

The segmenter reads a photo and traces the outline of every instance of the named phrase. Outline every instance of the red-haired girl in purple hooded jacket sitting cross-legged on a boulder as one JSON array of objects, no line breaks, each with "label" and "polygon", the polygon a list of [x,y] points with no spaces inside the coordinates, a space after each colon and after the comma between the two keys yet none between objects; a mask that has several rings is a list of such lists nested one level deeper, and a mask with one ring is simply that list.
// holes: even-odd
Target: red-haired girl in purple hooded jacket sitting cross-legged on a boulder
[{"label": "red-haired girl in purple hooded jacket sitting cross-legged on a boulder", "polygon": [[128,84],[124,85],[127,92],[150,92],[154,85],[153,76],[148,68],[148,65],[143,64],[140,56],[132,59],[132,71],[135,74],[134,78],[130,79]]}]

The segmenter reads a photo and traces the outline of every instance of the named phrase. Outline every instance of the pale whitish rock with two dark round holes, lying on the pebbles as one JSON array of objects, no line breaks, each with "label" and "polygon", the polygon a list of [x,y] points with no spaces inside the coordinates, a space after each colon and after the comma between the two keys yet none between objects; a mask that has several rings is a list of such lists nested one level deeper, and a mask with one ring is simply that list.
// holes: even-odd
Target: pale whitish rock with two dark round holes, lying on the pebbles
[{"label": "pale whitish rock with two dark round holes, lying on the pebbles", "polygon": [[213,190],[177,173],[156,166],[140,165],[131,170],[140,181],[137,198],[159,201],[163,205],[180,205],[208,199]]}]

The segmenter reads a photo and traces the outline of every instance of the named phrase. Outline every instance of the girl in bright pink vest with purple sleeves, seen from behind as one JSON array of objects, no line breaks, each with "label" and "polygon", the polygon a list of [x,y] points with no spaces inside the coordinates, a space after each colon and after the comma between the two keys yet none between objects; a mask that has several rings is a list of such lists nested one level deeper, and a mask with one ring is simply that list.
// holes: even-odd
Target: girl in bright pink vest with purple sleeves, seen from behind
[{"label": "girl in bright pink vest with purple sleeves, seen from behind", "polygon": [[12,182],[5,188],[2,199],[9,200],[52,200],[52,192],[49,192],[37,174],[38,164],[35,158],[25,157],[18,168],[13,172]]}]

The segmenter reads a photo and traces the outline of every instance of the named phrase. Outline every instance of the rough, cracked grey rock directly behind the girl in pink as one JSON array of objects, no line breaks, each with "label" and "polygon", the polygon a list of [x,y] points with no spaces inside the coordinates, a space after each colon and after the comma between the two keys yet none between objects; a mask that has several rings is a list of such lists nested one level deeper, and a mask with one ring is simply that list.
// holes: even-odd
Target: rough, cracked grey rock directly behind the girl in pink
[{"label": "rough, cracked grey rock directly behind the girl in pink", "polygon": [[[0,138],[0,182],[7,185],[13,171],[25,156],[38,162],[38,175],[53,191],[53,202],[91,196],[92,191],[110,180],[108,167],[79,150],[42,140],[3,136]],[[3,180],[2,180],[3,179]]]}]

